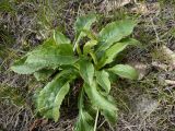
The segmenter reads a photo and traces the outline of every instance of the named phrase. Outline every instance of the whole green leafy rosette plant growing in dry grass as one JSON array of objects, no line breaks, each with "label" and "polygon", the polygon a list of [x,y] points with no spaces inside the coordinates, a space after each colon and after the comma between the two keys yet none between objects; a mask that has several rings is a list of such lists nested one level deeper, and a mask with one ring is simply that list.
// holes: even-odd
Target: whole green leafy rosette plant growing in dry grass
[{"label": "whole green leafy rosette plant growing in dry grass", "polygon": [[45,118],[55,121],[60,117],[59,108],[72,82],[82,79],[75,131],[96,130],[98,114],[108,122],[116,122],[117,107],[109,95],[110,74],[130,80],[138,78],[137,71],[128,64],[110,64],[128,45],[138,44],[138,40],[128,37],[136,22],[112,22],[94,34],[91,26],[96,20],[94,14],[78,17],[73,44],[61,32],[54,31],[52,37],[11,67],[20,74],[34,74],[38,81],[52,78],[38,93],[36,109]]}]

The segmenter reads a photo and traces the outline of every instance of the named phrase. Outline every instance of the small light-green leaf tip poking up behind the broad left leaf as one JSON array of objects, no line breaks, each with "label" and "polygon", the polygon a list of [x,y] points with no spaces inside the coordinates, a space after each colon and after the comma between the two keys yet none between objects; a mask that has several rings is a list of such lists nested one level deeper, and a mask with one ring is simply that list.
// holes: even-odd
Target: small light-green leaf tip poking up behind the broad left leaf
[{"label": "small light-green leaf tip poking up behind the broad left leaf", "polygon": [[61,32],[59,31],[54,31],[54,39],[56,44],[70,44],[70,39],[67,38]]}]

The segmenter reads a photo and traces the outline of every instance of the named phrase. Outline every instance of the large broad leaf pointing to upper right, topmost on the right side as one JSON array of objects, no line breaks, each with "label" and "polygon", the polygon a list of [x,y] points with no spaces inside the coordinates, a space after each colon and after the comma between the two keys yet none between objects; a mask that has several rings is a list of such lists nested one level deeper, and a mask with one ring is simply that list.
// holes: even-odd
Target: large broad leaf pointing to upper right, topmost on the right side
[{"label": "large broad leaf pointing to upper right, topmost on the right side", "polygon": [[106,50],[114,43],[130,35],[136,24],[132,20],[122,20],[107,24],[98,34],[98,40],[101,43],[97,50]]}]

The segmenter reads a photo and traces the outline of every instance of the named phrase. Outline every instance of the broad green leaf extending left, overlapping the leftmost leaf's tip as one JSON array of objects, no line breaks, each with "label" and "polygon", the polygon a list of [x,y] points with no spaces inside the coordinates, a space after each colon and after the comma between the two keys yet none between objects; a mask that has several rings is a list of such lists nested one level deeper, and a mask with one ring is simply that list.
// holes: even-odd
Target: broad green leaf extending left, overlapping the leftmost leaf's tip
[{"label": "broad green leaf extending left, overlapping the leftmost leaf's tip", "polygon": [[56,45],[51,40],[46,41],[39,48],[28,53],[26,63],[39,64],[40,67],[56,67],[72,64],[77,61],[73,57],[72,45]]}]

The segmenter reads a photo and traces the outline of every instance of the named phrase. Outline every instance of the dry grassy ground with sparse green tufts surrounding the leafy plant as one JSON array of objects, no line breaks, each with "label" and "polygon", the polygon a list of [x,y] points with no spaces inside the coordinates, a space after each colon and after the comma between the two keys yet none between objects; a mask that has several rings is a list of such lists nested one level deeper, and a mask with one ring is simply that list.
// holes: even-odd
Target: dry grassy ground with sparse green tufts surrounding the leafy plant
[{"label": "dry grassy ground with sparse green tufts surrounding the leafy plant", "polygon": [[116,80],[110,94],[118,121],[102,120],[102,131],[175,131],[175,1],[174,0],[2,0],[0,1],[0,131],[72,131],[77,98],[66,100],[58,122],[35,114],[34,92],[46,82],[10,70],[13,61],[42,44],[52,28],[73,39],[75,17],[101,14],[94,31],[106,23],[138,20],[132,36],[138,48],[124,52],[122,63],[140,72],[138,81]]}]

